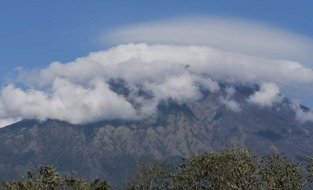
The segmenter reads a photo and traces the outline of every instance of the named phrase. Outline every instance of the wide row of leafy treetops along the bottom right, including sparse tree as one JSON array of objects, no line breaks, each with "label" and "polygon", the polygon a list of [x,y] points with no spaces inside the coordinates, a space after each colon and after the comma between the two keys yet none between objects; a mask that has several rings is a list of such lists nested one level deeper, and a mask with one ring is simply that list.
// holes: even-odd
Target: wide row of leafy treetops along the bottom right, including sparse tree
[{"label": "wide row of leafy treetops along the bottom right, including sparse tree", "polygon": [[307,162],[232,146],[191,156],[172,171],[160,162],[140,162],[125,189],[312,189],[313,158]]}]

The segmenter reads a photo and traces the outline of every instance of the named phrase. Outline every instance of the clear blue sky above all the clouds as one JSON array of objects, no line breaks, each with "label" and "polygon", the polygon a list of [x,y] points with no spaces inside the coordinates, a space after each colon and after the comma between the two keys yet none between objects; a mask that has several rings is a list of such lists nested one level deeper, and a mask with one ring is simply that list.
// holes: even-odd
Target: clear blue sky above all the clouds
[{"label": "clear blue sky above all the clouds", "polygon": [[1,1],[0,75],[107,48],[112,27],[172,16],[227,15],[313,35],[311,1]]}]

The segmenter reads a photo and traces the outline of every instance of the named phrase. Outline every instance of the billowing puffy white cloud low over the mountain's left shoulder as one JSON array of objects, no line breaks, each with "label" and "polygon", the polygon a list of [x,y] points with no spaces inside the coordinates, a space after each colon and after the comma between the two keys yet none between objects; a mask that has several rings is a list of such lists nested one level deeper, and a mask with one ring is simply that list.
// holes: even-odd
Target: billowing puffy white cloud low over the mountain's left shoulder
[{"label": "billowing puffy white cloud low over the mountain's left shoulder", "polygon": [[84,88],[67,79],[55,78],[51,93],[30,89],[23,91],[9,85],[2,90],[4,116],[47,118],[83,123],[101,119],[136,119],[132,105],[112,92],[101,78]]}]

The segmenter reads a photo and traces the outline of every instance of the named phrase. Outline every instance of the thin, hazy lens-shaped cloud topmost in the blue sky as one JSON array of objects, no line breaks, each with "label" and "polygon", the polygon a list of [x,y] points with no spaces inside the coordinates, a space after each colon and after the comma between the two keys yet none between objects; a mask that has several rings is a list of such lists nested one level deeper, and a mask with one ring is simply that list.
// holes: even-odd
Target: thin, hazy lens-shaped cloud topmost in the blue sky
[{"label": "thin, hazy lens-shaped cloud topmost in the blue sky", "polygon": [[106,44],[124,43],[205,45],[266,58],[310,62],[313,40],[249,20],[189,16],[130,25],[107,31]]}]

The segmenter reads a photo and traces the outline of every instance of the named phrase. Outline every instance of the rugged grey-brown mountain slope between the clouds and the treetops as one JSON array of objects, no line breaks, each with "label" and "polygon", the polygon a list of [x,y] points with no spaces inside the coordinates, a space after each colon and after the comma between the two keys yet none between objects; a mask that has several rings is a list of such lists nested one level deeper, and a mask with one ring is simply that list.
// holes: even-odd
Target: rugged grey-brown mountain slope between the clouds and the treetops
[{"label": "rugged grey-brown mountain slope between the clouds and the treetops", "polygon": [[[115,87],[127,93],[123,85]],[[34,165],[53,164],[61,174],[119,184],[141,157],[176,162],[232,143],[259,154],[281,150],[299,161],[313,156],[313,123],[299,123],[288,99],[262,108],[246,101],[258,86],[237,86],[233,99],[242,110],[233,112],[221,103],[226,86],[221,87],[217,93],[203,91],[197,102],[162,102],[157,115],[140,121],[22,120],[1,128],[0,181],[26,176]]]}]

